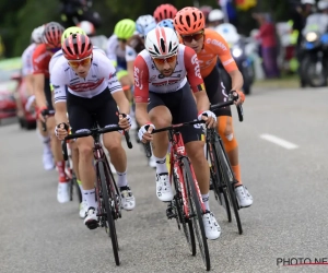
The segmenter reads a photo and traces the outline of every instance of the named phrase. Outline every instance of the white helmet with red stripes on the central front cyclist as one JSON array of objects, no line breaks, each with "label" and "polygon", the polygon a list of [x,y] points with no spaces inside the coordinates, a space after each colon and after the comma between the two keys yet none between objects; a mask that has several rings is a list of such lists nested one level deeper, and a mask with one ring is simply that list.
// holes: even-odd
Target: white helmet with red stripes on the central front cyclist
[{"label": "white helmet with red stripes on the central front cyclist", "polygon": [[167,58],[177,54],[179,38],[172,28],[156,27],[145,36],[144,47],[153,58]]}]

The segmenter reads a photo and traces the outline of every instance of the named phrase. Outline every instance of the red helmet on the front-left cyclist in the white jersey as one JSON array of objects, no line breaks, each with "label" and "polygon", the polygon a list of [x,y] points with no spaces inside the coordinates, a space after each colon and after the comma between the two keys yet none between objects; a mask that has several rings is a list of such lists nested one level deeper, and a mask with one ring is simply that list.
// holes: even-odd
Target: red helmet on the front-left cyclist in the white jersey
[{"label": "red helmet on the front-left cyclist in the white jersey", "polygon": [[92,55],[92,43],[86,35],[72,34],[61,44],[62,52],[68,60],[81,60]]}]

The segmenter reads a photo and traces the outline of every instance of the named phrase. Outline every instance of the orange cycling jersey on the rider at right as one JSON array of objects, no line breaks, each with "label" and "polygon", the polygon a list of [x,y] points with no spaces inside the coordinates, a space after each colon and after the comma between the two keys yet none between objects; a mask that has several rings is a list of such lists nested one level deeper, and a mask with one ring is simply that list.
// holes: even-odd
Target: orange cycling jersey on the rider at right
[{"label": "orange cycling jersey on the rider at right", "polygon": [[218,57],[226,72],[237,70],[237,64],[231,56],[231,51],[225,39],[215,31],[204,29],[203,48],[197,54],[200,73],[202,78],[208,76],[215,68]]}]

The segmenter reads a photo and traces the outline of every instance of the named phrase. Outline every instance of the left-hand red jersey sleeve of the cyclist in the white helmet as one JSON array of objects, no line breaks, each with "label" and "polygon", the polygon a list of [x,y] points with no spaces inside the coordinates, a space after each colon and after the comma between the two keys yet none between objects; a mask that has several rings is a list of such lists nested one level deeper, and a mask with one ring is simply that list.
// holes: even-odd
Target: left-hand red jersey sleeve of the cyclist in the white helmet
[{"label": "left-hand red jersey sleeve of the cyclist in the white helmet", "polygon": [[148,103],[149,71],[144,59],[140,55],[138,55],[136,58],[133,74],[134,74],[134,102]]}]

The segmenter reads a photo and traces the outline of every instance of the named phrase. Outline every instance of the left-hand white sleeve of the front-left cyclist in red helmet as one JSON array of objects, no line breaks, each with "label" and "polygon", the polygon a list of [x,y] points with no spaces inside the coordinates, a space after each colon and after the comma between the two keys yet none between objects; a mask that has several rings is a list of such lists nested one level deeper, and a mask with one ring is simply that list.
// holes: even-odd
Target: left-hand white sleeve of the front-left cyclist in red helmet
[{"label": "left-hand white sleeve of the front-left cyclist in red helmet", "polygon": [[[59,63],[60,64],[60,63]],[[65,71],[56,63],[54,66],[54,73],[50,74],[50,83],[54,90],[54,103],[66,102],[66,76]]]}]

